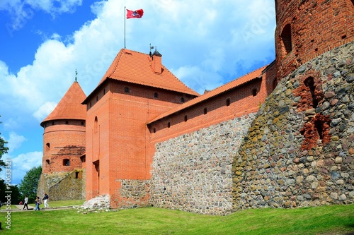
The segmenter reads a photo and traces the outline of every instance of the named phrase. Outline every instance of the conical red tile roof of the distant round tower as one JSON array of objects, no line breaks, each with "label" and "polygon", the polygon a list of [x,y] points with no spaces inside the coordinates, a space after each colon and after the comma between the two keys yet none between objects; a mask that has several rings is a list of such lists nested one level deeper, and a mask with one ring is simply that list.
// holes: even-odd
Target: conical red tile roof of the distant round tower
[{"label": "conical red tile roof of the distant round tower", "polygon": [[59,101],[57,107],[40,123],[43,126],[45,121],[59,119],[86,119],[86,106],[81,102],[86,99],[84,91],[81,89],[78,82],[72,83],[72,86],[67,90],[62,100]]}]

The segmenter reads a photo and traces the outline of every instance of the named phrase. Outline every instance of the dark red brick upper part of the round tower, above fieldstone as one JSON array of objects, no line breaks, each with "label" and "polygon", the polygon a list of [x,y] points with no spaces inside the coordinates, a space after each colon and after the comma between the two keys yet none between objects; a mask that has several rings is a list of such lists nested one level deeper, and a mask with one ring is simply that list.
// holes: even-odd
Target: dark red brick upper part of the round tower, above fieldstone
[{"label": "dark red brick upper part of the round tower, above fieldstone", "polygon": [[275,0],[277,79],[353,41],[353,0]]}]

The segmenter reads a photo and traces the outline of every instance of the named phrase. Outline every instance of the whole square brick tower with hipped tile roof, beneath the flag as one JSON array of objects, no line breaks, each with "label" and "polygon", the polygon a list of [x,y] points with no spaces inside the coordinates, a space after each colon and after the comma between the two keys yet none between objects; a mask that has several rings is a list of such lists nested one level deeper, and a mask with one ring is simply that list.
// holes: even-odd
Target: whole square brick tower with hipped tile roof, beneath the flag
[{"label": "whole square brick tower with hipped tile roof, beneath the flag", "polygon": [[[149,198],[152,152],[147,122],[198,93],[161,64],[161,54],[121,49],[83,104],[86,117],[86,199],[110,195],[111,207]],[[135,195],[131,195],[132,188]]]}]

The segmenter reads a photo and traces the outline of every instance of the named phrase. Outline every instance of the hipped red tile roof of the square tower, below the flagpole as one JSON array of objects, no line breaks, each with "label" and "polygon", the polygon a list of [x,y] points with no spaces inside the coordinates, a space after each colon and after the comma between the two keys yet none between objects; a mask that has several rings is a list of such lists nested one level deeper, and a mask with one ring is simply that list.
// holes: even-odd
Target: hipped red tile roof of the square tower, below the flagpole
[{"label": "hipped red tile roof of the square tower, below the flagpole", "polygon": [[112,78],[128,83],[148,85],[154,88],[199,96],[198,92],[188,88],[165,66],[161,65],[162,73],[155,73],[150,61],[151,57],[148,54],[120,49],[99,84],[103,83],[107,78]]}]

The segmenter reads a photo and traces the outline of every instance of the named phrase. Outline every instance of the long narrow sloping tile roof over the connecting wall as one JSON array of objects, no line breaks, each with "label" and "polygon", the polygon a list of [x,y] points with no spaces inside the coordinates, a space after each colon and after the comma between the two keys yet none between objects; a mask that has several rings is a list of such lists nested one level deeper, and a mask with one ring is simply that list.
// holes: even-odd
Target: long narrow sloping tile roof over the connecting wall
[{"label": "long narrow sloping tile roof over the connecting wall", "polygon": [[[204,95],[201,95],[199,97],[195,97],[193,100],[190,100],[188,102],[185,102],[181,105],[179,105],[178,107],[169,110],[168,112],[165,112],[164,114],[161,114],[159,116],[157,116],[155,119],[153,119],[152,121],[149,121],[149,123],[153,123],[154,121],[157,121],[159,119],[162,119],[166,116],[169,116],[171,114],[174,114],[176,112],[179,112],[183,109],[186,109],[188,107],[192,107],[195,104],[198,104],[200,102],[203,102],[205,100],[208,100],[212,97],[215,97],[223,92],[227,92],[228,90],[232,90],[234,88],[239,87],[240,85],[243,85],[244,83],[248,83],[251,80],[254,80],[256,78],[259,78],[262,74],[262,71],[265,69],[266,66],[263,66],[261,68],[258,68],[256,71],[253,71],[251,73],[247,73],[245,76],[242,76],[240,78],[237,78],[236,80],[232,80],[231,82],[222,85],[219,88],[215,88],[215,90],[210,90],[204,93]],[[149,124],[148,123],[148,124]]]}]

